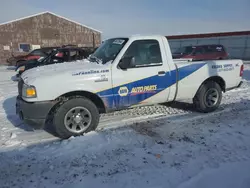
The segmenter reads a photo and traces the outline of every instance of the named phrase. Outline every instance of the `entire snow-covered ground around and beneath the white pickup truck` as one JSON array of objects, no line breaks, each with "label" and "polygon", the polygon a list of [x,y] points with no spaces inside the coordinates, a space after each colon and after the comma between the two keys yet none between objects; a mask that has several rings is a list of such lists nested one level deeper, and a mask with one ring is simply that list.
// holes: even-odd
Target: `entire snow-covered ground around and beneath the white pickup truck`
[{"label": "entire snow-covered ground around and beneath the white pickup truck", "polygon": [[64,141],[18,119],[13,75],[0,67],[0,187],[250,188],[250,65],[214,113],[125,110]]}]

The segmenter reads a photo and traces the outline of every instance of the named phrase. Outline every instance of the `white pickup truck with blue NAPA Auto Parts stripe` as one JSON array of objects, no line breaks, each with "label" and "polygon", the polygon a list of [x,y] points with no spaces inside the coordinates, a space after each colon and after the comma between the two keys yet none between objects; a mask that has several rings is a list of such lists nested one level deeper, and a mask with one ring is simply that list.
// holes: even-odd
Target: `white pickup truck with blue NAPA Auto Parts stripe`
[{"label": "white pickup truck with blue NAPA Auto Parts stripe", "polygon": [[218,108],[222,92],[240,87],[241,60],[173,61],[164,36],[106,40],[87,60],[25,72],[16,111],[61,138],[95,130],[100,113],[192,99],[200,112]]}]

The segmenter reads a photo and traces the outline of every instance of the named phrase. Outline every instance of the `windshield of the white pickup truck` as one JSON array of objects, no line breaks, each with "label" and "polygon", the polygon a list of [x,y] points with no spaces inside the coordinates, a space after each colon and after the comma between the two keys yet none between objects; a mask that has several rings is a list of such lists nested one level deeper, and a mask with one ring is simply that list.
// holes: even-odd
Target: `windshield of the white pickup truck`
[{"label": "windshield of the white pickup truck", "polygon": [[89,57],[89,60],[102,64],[114,60],[127,41],[128,38],[108,39]]}]

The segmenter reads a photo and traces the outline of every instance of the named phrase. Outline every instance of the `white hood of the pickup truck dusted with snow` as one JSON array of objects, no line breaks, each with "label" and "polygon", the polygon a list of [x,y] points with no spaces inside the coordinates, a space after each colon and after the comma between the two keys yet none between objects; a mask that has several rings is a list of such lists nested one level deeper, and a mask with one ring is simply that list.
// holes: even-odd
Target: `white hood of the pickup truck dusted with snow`
[{"label": "white hood of the pickup truck dusted with snow", "polygon": [[34,81],[35,79],[41,77],[53,77],[62,74],[77,75],[85,73],[88,75],[88,73],[103,69],[110,69],[110,63],[102,65],[84,59],[75,62],[51,64],[29,69],[22,74],[21,78],[25,81],[25,83],[28,84],[28,82]]}]

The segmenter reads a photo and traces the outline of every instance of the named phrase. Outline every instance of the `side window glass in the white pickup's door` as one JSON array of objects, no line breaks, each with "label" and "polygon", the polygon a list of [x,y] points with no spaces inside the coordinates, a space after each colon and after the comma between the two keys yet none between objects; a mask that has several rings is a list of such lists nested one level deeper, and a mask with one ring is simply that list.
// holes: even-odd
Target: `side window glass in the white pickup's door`
[{"label": "side window glass in the white pickup's door", "polygon": [[133,58],[132,67],[162,65],[160,45],[157,40],[134,41],[123,57]]}]

